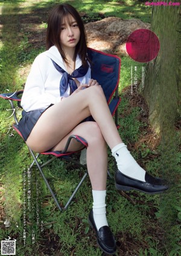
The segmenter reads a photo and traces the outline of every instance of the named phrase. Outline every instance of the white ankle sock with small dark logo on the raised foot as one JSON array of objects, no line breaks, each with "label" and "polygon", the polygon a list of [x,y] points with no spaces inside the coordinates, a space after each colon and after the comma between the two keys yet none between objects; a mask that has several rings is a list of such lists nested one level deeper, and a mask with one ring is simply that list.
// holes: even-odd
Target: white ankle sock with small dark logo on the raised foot
[{"label": "white ankle sock with small dark logo on the raised foot", "polygon": [[111,151],[121,173],[136,180],[145,181],[145,170],[136,163],[124,143],[116,145]]}]

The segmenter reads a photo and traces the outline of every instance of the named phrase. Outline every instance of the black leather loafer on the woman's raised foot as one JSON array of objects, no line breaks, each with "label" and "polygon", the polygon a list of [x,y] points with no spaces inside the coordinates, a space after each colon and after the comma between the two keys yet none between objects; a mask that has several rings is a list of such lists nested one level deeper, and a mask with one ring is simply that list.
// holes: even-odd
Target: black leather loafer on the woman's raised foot
[{"label": "black leather loafer on the woman's raised foot", "polygon": [[164,180],[160,178],[154,178],[145,173],[145,182],[130,178],[117,170],[115,174],[116,189],[129,191],[132,189],[139,190],[147,194],[157,194],[164,192],[168,189],[168,186],[164,184]]}]

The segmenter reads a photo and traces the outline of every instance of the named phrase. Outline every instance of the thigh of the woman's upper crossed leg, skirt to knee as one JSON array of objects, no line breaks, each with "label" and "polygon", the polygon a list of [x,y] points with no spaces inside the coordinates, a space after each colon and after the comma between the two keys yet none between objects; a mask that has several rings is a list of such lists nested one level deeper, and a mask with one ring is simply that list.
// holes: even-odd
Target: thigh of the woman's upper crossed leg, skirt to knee
[{"label": "thigh of the woman's upper crossed leg, skirt to knee", "polygon": [[71,95],[43,112],[27,139],[27,145],[36,152],[49,150],[89,116],[85,91],[89,89]]}]

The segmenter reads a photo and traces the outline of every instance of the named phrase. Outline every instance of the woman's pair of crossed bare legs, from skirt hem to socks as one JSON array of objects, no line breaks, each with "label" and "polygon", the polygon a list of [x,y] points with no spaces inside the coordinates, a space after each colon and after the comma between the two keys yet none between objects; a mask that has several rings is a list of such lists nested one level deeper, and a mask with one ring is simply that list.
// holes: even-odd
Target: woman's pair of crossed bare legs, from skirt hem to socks
[{"label": "woman's pair of crossed bare legs, from skirt hem to socks", "polygon": [[[79,124],[91,114],[97,122]],[[104,130],[109,144],[112,144],[112,140],[115,141],[115,144],[121,141],[103,90],[101,87],[93,86],[71,95],[69,98],[47,109],[40,116],[36,126],[34,126],[28,137],[27,144],[37,152],[43,152],[50,148],[62,150],[69,135],[82,136],[89,145],[87,147],[87,169],[92,189],[105,190],[107,147],[100,126]],[[115,136],[111,129],[115,131]],[[71,143],[69,150],[77,150],[79,148],[80,145],[74,141]]]}]

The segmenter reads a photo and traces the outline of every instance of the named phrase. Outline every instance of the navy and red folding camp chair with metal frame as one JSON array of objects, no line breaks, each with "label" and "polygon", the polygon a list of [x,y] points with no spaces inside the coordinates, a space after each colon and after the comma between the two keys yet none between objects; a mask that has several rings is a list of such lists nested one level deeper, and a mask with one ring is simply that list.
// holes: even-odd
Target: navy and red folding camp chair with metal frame
[{"label": "navy and red folding camp chair with metal frame", "polygon": [[[118,84],[119,84],[119,72],[121,69],[121,59],[118,58],[118,56],[115,55],[109,55],[107,53],[100,52],[98,50],[94,49],[88,49],[87,51],[88,56],[92,62],[92,70],[91,70],[91,76],[93,79],[96,79],[99,84],[101,84],[104,94],[107,99],[107,104],[109,104],[109,109],[112,115],[115,115],[115,124],[118,127],[118,105],[121,99],[118,96]],[[2,93],[0,94],[1,98],[8,99],[11,104],[11,108],[13,111],[14,121],[16,124],[13,125],[14,130],[16,130],[19,135],[21,133],[18,130],[18,120],[16,117],[16,107],[14,106],[14,103],[17,103],[18,107],[21,107],[21,95],[23,93],[23,90],[14,92],[14,93]],[[21,135],[22,136],[22,135]],[[61,152],[59,151],[47,151],[47,152],[41,152],[37,153],[37,155],[34,155],[34,152],[28,147],[30,150],[30,153],[33,157],[33,162],[30,165],[30,169],[33,167],[34,164],[36,164],[37,168],[40,171],[40,174],[43,177],[43,180],[46,183],[46,186],[49,189],[49,192],[52,195],[52,198],[54,198],[55,203],[57,204],[57,207],[60,211],[66,210],[69,204],[72,201],[72,198],[74,198],[75,194],[77,193],[78,189],[80,188],[81,184],[83,183],[84,179],[87,176],[87,167],[86,164],[81,164],[78,161],[75,161],[71,158],[71,155],[75,152],[67,152],[69,143],[71,140],[77,140],[80,143],[84,145],[84,147],[87,147],[87,142],[84,140],[84,138],[81,138],[77,135],[72,135],[68,138],[68,141],[66,143],[65,149]],[[44,164],[40,164],[38,161],[39,155],[52,155],[53,157],[46,161]],[[64,207],[60,206],[59,202],[57,201],[56,196],[54,195],[54,192],[52,191],[51,187],[49,186],[49,183],[42,171],[42,168],[45,167],[47,164],[51,163],[55,158],[59,158],[60,160],[66,160],[73,164],[76,164],[80,168],[83,168],[85,171],[83,177],[81,178],[80,183],[75,188],[74,192],[72,193],[71,197],[69,198],[68,202],[65,204]]]}]

